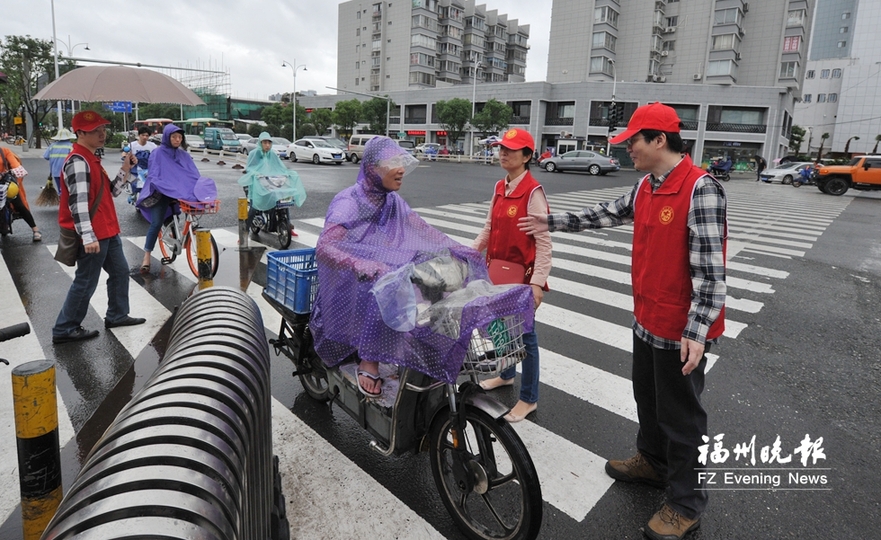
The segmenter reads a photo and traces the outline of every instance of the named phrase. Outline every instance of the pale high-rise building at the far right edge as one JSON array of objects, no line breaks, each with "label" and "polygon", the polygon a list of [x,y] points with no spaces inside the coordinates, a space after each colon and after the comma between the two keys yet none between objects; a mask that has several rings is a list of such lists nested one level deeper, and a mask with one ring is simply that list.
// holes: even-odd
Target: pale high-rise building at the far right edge
[{"label": "pale high-rise building at the far right edge", "polygon": [[881,134],[879,25],[877,0],[817,0],[804,88],[794,112],[795,123],[808,130],[803,151],[817,152],[821,144],[824,154],[875,148]]}]

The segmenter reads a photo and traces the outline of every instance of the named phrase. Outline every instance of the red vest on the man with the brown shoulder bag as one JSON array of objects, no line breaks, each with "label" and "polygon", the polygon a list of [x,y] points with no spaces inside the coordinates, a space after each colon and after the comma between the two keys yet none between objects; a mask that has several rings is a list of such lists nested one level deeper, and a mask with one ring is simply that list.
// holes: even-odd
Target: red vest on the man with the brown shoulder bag
[{"label": "red vest on the man with the brown shoulder bag", "polygon": [[[101,182],[104,182],[104,194],[101,196],[101,202],[95,210],[92,217],[92,230],[98,240],[111,238],[119,234],[119,221],[116,218],[116,205],[113,204],[113,187],[110,185],[110,177],[107,171],[101,165],[101,159],[92,152],[89,152],[83,146],[74,143],[73,150],[67,159],[72,156],[80,156],[86,160],[89,165],[89,209],[98,197],[98,190]],[[66,163],[66,161],[65,161]],[[64,169],[61,170],[61,194],[58,205],[58,225],[65,229],[76,230],[73,224],[73,216],[70,213],[70,205],[68,200],[70,192],[67,189],[67,183],[64,181]]]}]

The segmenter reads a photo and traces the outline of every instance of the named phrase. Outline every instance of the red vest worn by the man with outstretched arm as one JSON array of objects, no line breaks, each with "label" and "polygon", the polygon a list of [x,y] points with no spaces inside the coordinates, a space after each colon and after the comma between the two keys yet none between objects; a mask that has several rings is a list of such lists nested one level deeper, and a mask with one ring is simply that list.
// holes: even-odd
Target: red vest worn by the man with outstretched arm
[{"label": "red vest worn by the man with outstretched arm", "polygon": [[[679,341],[691,307],[691,265],[688,261],[688,210],[694,185],[706,174],[687,156],[652,193],[646,176],[633,207],[633,313],[652,335]],[[722,240],[727,255],[728,230]],[[725,330],[725,307],[710,326],[707,339]]]}]

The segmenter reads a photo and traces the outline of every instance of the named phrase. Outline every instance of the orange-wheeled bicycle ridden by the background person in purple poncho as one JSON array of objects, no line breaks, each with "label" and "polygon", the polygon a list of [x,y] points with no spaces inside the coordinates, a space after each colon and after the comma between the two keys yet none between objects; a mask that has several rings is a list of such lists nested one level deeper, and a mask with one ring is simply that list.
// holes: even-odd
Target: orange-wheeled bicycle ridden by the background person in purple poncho
[{"label": "orange-wheeled bicycle ridden by the background person in purple poncho", "polygon": [[[175,208],[177,207],[177,208]],[[159,250],[162,252],[162,264],[171,264],[184,250],[187,252],[187,264],[193,275],[199,277],[199,259],[196,253],[195,231],[199,228],[199,216],[203,214],[216,214],[220,209],[220,201],[177,201],[172,205],[172,215],[165,220],[159,229]],[[185,217],[181,217],[183,214]],[[183,224],[181,222],[183,221]],[[217,273],[219,252],[214,236],[209,233],[211,240],[211,259],[203,264],[209,264],[209,277]]]}]

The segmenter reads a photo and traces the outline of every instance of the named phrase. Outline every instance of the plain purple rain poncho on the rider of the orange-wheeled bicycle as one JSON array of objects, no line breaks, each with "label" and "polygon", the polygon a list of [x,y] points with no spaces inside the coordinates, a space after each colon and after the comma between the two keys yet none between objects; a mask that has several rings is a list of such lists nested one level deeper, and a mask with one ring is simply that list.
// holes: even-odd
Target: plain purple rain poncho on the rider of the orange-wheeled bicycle
[{"label": "plain purple rain poncho on the rider of the orange-wheeled bicycle", "polygon": [[[193,188],[199,180],[199,169],[196,168],[193,158],[183,145],[179,148],[171,146],[171,134],[178,131],[183,135],[183,130],[178,126],[174,124],[165,126],[162,130],[162,144],[150,152],[147,180],[138,196],[139,208],[141,201],[155,191],[172,199],[199,200],[193,194]],[[149,217],[147,219],[149,220]]]}]

